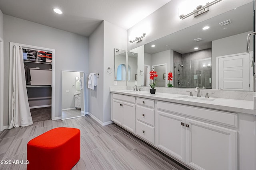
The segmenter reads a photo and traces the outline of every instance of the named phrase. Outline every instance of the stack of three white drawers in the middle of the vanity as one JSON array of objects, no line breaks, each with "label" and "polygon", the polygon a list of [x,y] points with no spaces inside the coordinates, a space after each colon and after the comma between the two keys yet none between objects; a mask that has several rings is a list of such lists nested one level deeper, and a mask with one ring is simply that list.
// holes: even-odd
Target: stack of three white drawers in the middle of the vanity
[{"label": "stack of three white drawers in the middle of the vanity", "polygon": [[136,135],[154,145],[154,100],[137,98]]}]

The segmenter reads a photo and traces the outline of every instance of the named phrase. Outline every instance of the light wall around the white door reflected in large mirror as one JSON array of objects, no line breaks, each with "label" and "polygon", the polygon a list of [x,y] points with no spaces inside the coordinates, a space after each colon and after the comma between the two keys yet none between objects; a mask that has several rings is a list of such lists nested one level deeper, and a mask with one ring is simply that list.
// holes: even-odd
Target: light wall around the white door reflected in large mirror
[{"label": "light wall around the white door reflected in large mirror", "polygon": [[[241,33],[230,37],[212,41],[212,89],[216,89],[216,57],[246,53],[246,40],[248,33]],[[253,51],[253,36],[250,37],[250,51]]]}]

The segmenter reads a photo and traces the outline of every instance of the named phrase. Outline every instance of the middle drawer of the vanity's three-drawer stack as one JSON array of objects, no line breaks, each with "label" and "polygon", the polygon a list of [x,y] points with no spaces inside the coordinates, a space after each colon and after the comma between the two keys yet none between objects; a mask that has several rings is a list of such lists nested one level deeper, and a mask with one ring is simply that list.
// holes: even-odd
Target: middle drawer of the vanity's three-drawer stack
[{"label": "middle drawer of the vanity's three-drawer stack", "polygon": [[154,126],[154,109],[137,105],[136,119]]}]

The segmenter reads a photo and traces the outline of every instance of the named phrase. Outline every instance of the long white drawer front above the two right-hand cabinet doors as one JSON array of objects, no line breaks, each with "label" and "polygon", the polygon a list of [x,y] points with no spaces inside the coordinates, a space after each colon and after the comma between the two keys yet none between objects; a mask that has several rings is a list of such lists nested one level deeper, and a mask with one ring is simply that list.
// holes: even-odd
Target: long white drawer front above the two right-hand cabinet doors
[{"label": "long white drawer front above the two right-hand cabinet doors", "polygon": [[236,113],[230,113],[226,111],[217,111],[212,109],[204,109],[200,107],[184,106],[180,104],[172,104],[168,102],[157,101],[157,109],[169,111],[172,113],[178,113],[182,115],[188,115],[203,119],[206,121],[212,121],[222,125],[228,125],[231,127],[238,127],[238,115]]}]

